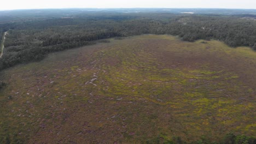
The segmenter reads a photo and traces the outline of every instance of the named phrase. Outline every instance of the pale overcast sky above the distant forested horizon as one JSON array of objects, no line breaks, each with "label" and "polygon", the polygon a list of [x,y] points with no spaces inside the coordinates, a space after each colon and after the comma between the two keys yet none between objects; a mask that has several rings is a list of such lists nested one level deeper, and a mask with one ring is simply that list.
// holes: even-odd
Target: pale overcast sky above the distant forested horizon
[{"label": "pale overcast sky above the distant forested horizon", "polygon": [[0,4],[0,10],[42,8],[256,9],[256,0],[1,0]]}]

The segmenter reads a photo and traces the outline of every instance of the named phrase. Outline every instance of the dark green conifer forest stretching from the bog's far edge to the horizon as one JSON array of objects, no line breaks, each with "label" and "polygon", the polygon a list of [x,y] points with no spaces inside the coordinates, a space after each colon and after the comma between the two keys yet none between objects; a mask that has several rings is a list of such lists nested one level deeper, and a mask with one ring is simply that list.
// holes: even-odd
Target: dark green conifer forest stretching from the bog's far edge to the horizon
[{"label": "dark green conifer forest stretching from the bog's far edge to the horizon", "polygon": [[[198,14],[183,14],[184,11]],[[1,11],[0,33],[8,31],[8,35],[0,69],[37,61],[50,52],[94,44],[97,40],[140,34],[178,35],[185,41],[216,39],[232,47],[249,46],[256,50],[253,14],[255,10],[225,9]]]}]

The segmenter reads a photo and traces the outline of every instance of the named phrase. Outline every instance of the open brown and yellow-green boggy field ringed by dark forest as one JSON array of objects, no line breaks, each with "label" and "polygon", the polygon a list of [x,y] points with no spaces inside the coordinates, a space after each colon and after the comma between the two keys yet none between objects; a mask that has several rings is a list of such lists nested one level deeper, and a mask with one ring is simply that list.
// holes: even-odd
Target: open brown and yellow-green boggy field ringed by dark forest
[{"label": "open brown and yellow-green boggy field ringed by dark forest", "polygon": [[145,143],[255,136],[256,52],[141,35],[2,71],[0,140]]}]

